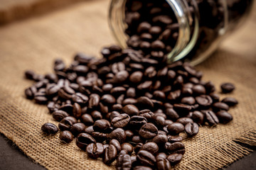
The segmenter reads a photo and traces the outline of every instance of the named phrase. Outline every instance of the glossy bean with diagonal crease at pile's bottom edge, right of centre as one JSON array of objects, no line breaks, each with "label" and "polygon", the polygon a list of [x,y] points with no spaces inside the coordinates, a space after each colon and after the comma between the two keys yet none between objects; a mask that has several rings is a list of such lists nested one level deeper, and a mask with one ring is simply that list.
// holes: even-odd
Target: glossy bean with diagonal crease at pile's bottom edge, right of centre
[{"label": "glossy bean with diagonal crease at pile's bottom edge, right of centre", "polygon": [[154,166],[156,164],[156,158],[154,155],[146,150],[141,150],[138,152],[137,160],[144,166]]}]

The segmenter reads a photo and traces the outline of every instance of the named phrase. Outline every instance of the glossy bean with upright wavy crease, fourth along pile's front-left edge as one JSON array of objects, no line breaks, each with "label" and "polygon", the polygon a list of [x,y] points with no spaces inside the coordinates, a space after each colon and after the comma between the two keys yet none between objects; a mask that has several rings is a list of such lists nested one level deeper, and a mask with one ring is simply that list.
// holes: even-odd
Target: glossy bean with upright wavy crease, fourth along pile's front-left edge
[{"label": "glossy bean with upright wavy crease, fourth along pile's front-left edge", "polygon": [[104,147],[101,143],[91,143],[86,147],[88,156],[92,159],[101,157],[104,152]]}]

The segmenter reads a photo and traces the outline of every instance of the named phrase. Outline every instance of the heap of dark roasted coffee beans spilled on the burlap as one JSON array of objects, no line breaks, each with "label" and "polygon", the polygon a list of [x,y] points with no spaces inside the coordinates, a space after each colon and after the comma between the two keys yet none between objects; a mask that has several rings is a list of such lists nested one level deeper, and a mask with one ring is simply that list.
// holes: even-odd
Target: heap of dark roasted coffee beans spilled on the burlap
[{"label": "heap of dark roasted coffee beans spilled on the burlap", "polygon": [[[117,160],[117,169],[171,169],[185,154],[180,133],[194,137],[200,125],[233,120],[228,110],[238,101],[220,101],[213,83],[190,64],[166,64],[166,56],[145,57],[117,45],[101,53],[101,59],[75,55],[68,67],[55,60],[53,74],[25,73],[36,81],[26,97],[46,104],[60,122],[41,130],[60,130],[60,140],[75,140],[88,157]],[[228,93],[235,86],[221,88]]]}]

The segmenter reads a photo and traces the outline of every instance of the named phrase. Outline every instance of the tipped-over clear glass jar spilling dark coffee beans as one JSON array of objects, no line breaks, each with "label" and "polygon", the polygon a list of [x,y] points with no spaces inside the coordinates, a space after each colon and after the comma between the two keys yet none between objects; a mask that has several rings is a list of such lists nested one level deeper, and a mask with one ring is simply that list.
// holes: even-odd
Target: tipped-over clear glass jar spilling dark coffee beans
[{"label": "tipped-over clear glass jar spilling dark coffee beans", "polygon": [[[112,0],[109,23],[114,38],[125,48],[129,45],[129,38],[137,34],[136,30],[132,32],[130,27],[134,23],[139,24],[131,23],[133,21],[130,16],[137,15],[149,20],[154,26],[152,21],[157,20],[154,19],[157,11],[164,11],[164,15],[173,20],[163,27],[164,30],[171,29],[169,33],[173,33],[172,37],[166,38],[164,42],[168,45],[164,50],[168,61],[183,60],[196,65],[212,54],[220,45],[220,41],[245,21],[252,1]],[[159,38],[161,35],[156,39]]]}]

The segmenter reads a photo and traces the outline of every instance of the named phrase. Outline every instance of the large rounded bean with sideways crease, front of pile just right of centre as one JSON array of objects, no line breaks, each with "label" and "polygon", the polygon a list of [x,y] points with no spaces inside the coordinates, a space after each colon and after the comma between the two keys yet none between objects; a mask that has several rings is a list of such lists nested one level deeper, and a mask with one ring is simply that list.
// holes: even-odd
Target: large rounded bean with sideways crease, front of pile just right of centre
[{"label": "large rounded bean with sideways crease, front of pile just right of centre", "polygon": [[158,129],[152,123],[146,123],[142,125],[142,128],[139,130],[139,135],[145,139],[151,139],[158,134]]}]

